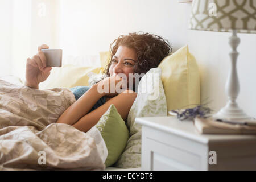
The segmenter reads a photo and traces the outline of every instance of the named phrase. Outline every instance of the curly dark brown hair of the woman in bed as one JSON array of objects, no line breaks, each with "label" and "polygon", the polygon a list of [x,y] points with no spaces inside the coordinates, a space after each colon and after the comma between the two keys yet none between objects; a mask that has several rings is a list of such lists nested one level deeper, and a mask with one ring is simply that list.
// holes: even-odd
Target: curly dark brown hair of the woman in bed
[{"label": "curly dark brown hair of the woman in bed", "polygon": [[134,73],[146,73],[151,68],[158,67],[160,61],[172,52],[168,40],[164,40],[158,35],[143,33],[129,33],[129,35],[120,35],[110,44],[110,59],[104,70],[107,76],[110,76],[109,68],[112,64],[112,57],[117,52],[119,46],[126,46],[135,49],[137,53],[137,63],[134,65]]}]

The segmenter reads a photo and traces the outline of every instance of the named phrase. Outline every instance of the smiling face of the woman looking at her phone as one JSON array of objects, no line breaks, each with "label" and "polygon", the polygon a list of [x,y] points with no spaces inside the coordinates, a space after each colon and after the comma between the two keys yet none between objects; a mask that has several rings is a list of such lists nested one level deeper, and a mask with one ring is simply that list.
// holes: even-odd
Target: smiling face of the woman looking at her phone
[{"label": "smiling face of the woman looking at her phone", "polygon": [[112,57],[109,68],[110,76],[123,73],[129,81],[129,73],[134,73],[133,67],[137,62],[136,51],[126,46],[119,46],[117,52]]}]

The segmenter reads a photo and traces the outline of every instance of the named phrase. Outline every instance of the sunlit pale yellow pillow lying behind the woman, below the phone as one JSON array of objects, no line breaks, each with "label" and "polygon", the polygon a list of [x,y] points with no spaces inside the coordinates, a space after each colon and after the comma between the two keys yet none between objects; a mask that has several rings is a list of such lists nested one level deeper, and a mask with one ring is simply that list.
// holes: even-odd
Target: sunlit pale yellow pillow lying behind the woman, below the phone
[{"label": "sunlit pale yellow pillow lying behind the woman, below the phone", "polygon": [[101,67],[80,67],[63,65],[61,68],[52,67],[51,75],[39,84],[39,89],[71,88],[74,86],[89,86],[89,72],[100,73]]}]

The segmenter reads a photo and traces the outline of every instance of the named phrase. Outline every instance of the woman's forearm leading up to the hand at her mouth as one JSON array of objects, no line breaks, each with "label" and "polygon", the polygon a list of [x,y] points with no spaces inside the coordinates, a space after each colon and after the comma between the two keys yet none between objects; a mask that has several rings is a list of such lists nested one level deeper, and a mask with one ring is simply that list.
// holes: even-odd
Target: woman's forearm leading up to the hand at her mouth
[{"label": "woman's forearm leading up to the hand at her mouth", "polygon": [[57,123],[73,125],[81,117],[86,115],[94,104],[104,96],[104,93],[97,92],[97,84],[93,85],[74,104],[68,107],[57,120]]}]

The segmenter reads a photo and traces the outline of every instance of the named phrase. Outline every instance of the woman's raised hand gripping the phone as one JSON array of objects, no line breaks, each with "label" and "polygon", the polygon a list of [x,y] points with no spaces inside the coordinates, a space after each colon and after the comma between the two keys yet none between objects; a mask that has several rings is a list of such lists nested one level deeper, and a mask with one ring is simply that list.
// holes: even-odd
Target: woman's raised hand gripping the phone
[{"label": "woman's raised hand gripping the phone", "polygon": [[43,82],[50,75],[52,67],[46,67],[46,56],[41,49],[48,49],[49,46],[43,44],[38,47],[38,53],[27,59],[26,65],[26,86],[38,88],[38,84]]}]

